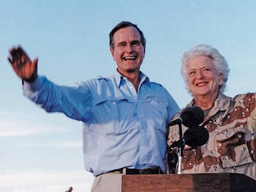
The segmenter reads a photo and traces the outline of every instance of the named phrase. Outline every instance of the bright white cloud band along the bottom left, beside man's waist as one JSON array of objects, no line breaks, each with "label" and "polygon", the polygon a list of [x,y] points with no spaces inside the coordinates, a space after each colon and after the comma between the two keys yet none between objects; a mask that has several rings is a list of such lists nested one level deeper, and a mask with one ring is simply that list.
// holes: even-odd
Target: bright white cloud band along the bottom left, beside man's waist
[{"label": "bright white cloud band along the bottom left, beside man's waist", "polygon": [[56,192],[66,191],[69,186],[74,191],[90,191],[93,177],[83,170],[71,172],[53,172],[29,170],[0,174],[0,189],[5,192]]}]

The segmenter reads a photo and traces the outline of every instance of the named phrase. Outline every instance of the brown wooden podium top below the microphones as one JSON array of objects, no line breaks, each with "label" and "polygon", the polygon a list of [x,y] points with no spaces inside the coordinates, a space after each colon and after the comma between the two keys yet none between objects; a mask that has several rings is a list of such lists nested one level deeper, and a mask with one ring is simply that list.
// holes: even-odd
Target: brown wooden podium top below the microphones
[{"label": "brown wooden podium top below the microphones", "polygon": [[122,192],[249,192],[256,180],[238,173],[122,175]]}]

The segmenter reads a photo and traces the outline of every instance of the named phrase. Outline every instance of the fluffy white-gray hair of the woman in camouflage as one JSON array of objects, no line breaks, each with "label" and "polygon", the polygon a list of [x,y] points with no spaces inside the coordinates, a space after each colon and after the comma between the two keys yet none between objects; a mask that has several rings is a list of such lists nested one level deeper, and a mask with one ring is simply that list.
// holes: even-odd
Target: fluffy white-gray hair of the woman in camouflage
[{"label": "fluffy white-gray hair of the woman in camouflage", "polygon": [[226,88],[226,82],[228,81],[228,74],[229,74],[229,67],[228,67],[228,62],[226,59],[220,54],[220,52],[207,45],[207,44],[199,44],[198,46],[195,46],[194,48],[190,49],[189,51],[185,52],[182,56],[182,67],[181,67],[181,75],[183,77],[183,80],[186,83],[186,86],[189,83],[188,77],[187,77],[187,65],[189,62],[194,59],[195,57],[198,56],[207,56],[210,57],[213,61],[213,65],[215,65],[215,68],[218,72],[218,74],[223,75],[223,85],[219,86],[219,91],[221,93],[224,92]]}]

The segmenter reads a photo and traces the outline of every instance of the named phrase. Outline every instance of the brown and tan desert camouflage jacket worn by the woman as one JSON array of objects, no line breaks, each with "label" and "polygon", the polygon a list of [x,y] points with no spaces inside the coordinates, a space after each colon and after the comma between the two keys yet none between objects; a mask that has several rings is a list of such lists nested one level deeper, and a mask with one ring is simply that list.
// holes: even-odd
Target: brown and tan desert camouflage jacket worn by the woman
[{"label": "brown and tan desert camouflage jacket worn by the woman", "polygon": [[[255,98],[256,93],[239,94],[234,98],[218,94],[202,123],[209,132],[208,143],[197,149],[185,146],[184,173],[243,173],[256,180]],[[193,104],[194,100],[187,107]],[[182,133],[186,129],[182,125]],[[166,136],[169,146],[179,140],[178,125],[169,127]]]}]

